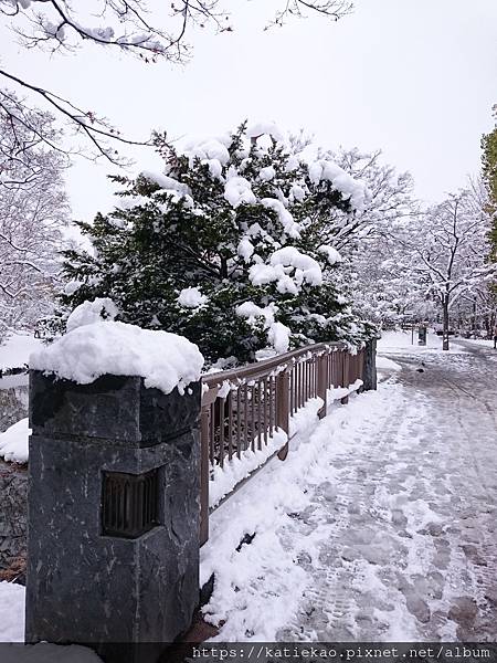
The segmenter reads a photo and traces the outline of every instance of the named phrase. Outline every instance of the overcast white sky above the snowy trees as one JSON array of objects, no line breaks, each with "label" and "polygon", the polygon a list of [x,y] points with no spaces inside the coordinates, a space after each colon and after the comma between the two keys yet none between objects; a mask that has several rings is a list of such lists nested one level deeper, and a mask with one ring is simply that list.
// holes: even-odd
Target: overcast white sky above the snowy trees
[{"label": "overcast white sky above the snowy trees", "polygon": [[[315,17],[264,32],[277,3],[226,0],[235,31],[199,34],[184,67],[146,66],[94,46],[62,57],[27,53],[4,30],[1,61],[136,137],[274,119],[304,127],[324,147],[381,148],[427,201],[478,171],[497,103],[496,0],[357,0],[338,23]],[[137,158],[135,171],[160,168],[150,152]],[[75,218],[108,208],[108,172],[116,169],[76,161],[67,177]]]}]

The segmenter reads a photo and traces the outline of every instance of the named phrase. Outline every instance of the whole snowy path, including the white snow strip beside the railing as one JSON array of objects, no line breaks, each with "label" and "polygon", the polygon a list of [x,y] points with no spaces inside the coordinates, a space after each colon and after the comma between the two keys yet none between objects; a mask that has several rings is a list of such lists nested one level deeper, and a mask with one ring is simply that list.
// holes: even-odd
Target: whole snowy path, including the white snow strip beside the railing
[{"label": "whole snowy path, including the white snow strip beside the railing", "polygon": [[[252,545],[205,556],[221,640],[497,640],[497,354],[464,352],[391,355],[402,370],[318,424],[304,472],[284,463],[220,515],[213,550],[265,492]],[[304,495],[271,525],[285,481]]]}]

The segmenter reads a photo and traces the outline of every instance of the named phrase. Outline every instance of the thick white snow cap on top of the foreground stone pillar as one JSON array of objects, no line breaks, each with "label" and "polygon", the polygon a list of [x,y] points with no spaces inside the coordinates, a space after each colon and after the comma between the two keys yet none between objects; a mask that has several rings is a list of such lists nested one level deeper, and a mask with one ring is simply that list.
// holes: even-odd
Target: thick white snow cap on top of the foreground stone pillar
[{"label": "thick white snow cap on top of the foreground stone pillar", "polygon": [[203,366],[199,348],[176,334],[102,322],[76,327],[33,354],[31,368],[88,385],[103,375],[140,376],[146,387],[180,393]]}]

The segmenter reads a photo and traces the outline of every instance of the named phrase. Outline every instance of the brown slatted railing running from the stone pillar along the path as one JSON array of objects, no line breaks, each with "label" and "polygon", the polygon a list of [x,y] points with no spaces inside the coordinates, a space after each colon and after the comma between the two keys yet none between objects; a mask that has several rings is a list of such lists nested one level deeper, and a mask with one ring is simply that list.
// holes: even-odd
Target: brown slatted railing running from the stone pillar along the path
[{"label": "brown slatted railing running from the stone pillar along the path", "polygon": [[[250,366],[202,378],[201,545],[209,538],[209,513],[268,460],[286,457],[289,420],[319,397],[326,414],[327,390],[361,386],[363,350],[345,344],[307,346]],[[348,392],[341,396],[347,402]],[[209,499],[209,482],[226,469],[231,484]]]}]

